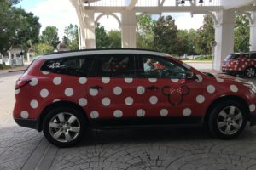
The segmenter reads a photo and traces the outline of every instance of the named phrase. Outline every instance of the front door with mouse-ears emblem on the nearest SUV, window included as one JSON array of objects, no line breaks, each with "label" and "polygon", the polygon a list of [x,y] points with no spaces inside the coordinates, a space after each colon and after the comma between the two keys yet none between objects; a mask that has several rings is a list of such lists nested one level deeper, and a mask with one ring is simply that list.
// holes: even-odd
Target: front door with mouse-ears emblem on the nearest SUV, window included
[{"label": "front door with mouse-ears emblem on the nearest SUV, window included", "polygon": [[163,117],[172,123],[201,120],[199,108],[205,99],[201,82],[189,66],[166,57],[141,54],[137,56],[137,67],[138,82],[144,89],[143,116],[154,118],[154,122]]}]

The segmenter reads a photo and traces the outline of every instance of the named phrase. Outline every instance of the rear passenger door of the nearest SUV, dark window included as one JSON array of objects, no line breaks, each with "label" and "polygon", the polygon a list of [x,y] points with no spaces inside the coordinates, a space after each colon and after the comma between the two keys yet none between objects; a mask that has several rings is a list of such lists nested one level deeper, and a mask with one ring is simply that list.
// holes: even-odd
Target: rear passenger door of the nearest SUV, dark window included
[{"label": "rear passenger door of the nearest SUV, dark window included", "polygon": [[122,120],[133,118],[142,109],[134,68],[132,54],[96,56],[86,89],[91,121],[124,125]]}]

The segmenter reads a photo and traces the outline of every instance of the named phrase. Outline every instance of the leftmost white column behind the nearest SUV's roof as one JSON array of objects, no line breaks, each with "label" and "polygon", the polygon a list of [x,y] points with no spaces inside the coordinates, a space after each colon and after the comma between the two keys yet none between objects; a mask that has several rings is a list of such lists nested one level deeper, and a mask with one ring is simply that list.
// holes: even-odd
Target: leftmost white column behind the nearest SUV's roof
[{"label": "leftmost white column behind the nearest SUV's roof", "polygon": [[[84,27],[84,29],[83,29]],[[83,44],[85,42],[85,44]],[[84,12],[84,26],[81,26],[81,45],[84,48],[96,48],[94,11]]]}]

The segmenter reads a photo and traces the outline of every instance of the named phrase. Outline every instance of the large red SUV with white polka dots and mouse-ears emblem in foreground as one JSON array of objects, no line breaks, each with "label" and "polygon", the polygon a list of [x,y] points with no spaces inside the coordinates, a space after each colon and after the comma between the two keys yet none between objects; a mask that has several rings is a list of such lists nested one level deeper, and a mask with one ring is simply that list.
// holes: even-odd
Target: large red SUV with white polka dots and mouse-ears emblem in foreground
[{"label": "large red SUV with white polka dots and mouse-ears emblem in foreground", "polygon": [[63,52],[39,56],[17,80],[14,118],[61,147],[87,127],[204,125],[231,139],[255,123],[255,93],[252,82],[154,51]]}]

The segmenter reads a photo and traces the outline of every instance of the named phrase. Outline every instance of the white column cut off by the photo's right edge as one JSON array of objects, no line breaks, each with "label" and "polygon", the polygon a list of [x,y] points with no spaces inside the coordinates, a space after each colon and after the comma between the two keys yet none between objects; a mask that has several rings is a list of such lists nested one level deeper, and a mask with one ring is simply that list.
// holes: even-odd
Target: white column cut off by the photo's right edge
[{"label": "white column cut off by the photo's right edge", "polygon": [[256,12],[251,13],[250,23],[250,51],[256,51]]}]

